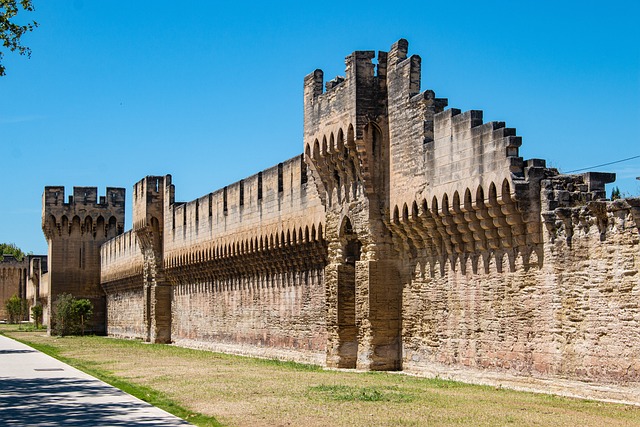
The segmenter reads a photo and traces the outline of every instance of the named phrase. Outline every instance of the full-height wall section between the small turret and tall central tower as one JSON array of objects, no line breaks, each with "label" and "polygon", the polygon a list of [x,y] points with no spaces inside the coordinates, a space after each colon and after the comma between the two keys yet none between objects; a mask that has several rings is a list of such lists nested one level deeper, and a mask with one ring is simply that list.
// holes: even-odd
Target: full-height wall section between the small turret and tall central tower
[{"label": "full-height wall section between the small turret and tall central tower", "polygon": [[323,210],[307,180],[297,157],[196,201],[168,206],[172,339],[254,354],[298,349],[307,360],[320,359]]}]

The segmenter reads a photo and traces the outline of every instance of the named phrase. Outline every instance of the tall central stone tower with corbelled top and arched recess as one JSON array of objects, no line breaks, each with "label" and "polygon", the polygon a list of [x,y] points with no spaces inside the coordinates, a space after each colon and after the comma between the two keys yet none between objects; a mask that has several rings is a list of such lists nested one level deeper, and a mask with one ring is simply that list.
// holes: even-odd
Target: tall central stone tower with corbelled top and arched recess
[{"label": "tall central stone tower with corbelled top and arched recess", "polygon": [[356,51],[345,77],[304,82],[305,160],[326,209],[327,365],[400,369],[402,286],[389,211],[387,63],[402,46]]}]

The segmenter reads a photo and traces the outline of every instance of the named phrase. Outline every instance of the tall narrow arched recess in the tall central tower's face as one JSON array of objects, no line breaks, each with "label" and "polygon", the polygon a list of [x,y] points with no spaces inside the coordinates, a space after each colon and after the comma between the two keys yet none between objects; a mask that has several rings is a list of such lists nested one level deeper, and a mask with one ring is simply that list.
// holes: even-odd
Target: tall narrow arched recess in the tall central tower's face
[{"label": "tall narrow arched recess in the tall central tower's face", "polygon": [[338,266],[338,367],[355,368],[358,358],[356,321],[356,262],[360,261],[362,243],[353,231],[349,218],[340,227],[342,262]]}]

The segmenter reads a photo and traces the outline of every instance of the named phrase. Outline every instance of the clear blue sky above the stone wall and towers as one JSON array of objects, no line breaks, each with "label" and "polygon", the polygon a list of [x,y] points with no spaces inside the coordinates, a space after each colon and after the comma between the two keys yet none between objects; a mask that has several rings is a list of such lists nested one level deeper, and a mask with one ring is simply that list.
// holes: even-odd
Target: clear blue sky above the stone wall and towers
[{"label": "clear blue sky above the stone wall and towers", "polygon": [[[640,155],[640,2],[34,0],[0,78],[0,242],[46,253],[46,185],[173,175],[195,199],[302,152],[302,82],[409,40],[422,89],[570,171]],[[640,159],[597,170],[640,194]]]}]

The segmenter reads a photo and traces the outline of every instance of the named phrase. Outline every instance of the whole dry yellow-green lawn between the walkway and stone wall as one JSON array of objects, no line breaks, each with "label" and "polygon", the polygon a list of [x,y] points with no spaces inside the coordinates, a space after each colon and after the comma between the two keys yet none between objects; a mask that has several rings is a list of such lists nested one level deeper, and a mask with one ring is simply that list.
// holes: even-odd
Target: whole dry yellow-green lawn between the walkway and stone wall
[{"label": "whole dry yellow-green lawn between the walkway and stone wall", "polygon": [[0,332],[201,426],[630,426],[640,408],[106,337]]}]

